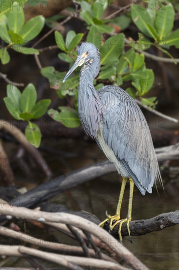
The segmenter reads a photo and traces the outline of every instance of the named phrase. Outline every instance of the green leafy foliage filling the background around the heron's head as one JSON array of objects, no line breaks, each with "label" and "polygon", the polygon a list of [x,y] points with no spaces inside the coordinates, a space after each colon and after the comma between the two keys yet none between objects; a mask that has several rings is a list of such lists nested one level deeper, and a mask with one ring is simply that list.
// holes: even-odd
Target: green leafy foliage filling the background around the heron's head
[{"label": "green leafy foliage filling the background around the heron's head", "polygon": [[[49,99],[43,99],[43,87],[37,93],[31,68],[27,68],[29,79],[24,90],[20,91],[16,83],[7,85],[3,99],[6,109],[13,118],[28,122],[25,136],[32,145],[39,147],[42,136],[33,119],[46,112],[66,127],[80,126],[77,106],[79,69],[65,83],[62,81],[76,59],[76,47],[84,41],[95,44],[101,53],[101,70],[94,80],[96,89],[105,84],[118,85],[143,106],[156,108],[157,94],[154,91],[154,95],[149,94],[154,88],[155,71],[148,67],[146,57],[152,58],[157,53],[158,57],[166,57],[166,61],[172,59],[173,66],[177,64],[173,55],[173,49],[174,54],[179,49],[179,28],[175,24],[179,17],[177,1],[127,1],[125,7],[114,10],[112,0],[59,0],[55,3],[40,0],[34,4],[32,0],[0,1],[2,65],[8,67],[14,62],[19,81],[23,81],[23,65],[28,66],[28,61],[32,61],[29,57],[35,57],[39,72],[55,93],[48,94]],[[49,36],[50,46],[45,46]],[[55,60],[51,59],[49,63],[52,51]],[[20,54],[21,66],[17,60]],[[24,54],[31,56],[26,58]],[[47,60],[43,60],[48,54]],[[57,61],[60,68],[53,64]],[[1,74],[1,78],[8,82],[8,70],[4,68],[4,71],[7,74]],[[51,101],[51,108],[48,108]]]}]

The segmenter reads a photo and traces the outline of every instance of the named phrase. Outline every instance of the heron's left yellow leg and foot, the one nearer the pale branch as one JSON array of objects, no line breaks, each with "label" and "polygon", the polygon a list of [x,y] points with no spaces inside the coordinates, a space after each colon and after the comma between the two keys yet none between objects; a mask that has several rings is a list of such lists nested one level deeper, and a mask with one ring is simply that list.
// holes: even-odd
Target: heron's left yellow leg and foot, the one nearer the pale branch
[{"label": "heron's left yellow leg and foot, the one nearer the pale branch", "polygon": [[99,226],[103,227],[105,222],[110,220],[110,228],[111,230],[113,229],[113,225],[112,225],[112,222],[114,220],[120,220],[120,211],[121,211],[121,205],[122,205],[122,199],[123,199],[123,195],[124,195],[124,190],[125,190],[125,187],[126,187],[126,183],[127,183],[127,178],[122,178],[122,185],[121,185],[121,190],[120,190],[120,195],[119,195],[119,200],[118,200],[118,203],[117,203],[117,209],[116,209],[116,213],[114,216],[111,216],[111,215],[108,215],[108,217],[103,220]]}]

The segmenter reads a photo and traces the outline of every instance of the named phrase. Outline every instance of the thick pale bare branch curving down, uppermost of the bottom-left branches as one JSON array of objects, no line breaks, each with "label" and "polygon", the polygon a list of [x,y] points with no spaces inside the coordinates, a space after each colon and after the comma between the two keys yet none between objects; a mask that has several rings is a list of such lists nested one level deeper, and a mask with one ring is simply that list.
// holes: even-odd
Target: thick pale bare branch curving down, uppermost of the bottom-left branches
[{"label": "thick pale bare branch curving down, uppermost of the bottom-left branches", "polygon": [[[32,219],[32,220],[36,220],[42,223],[57,222],[57,223],[63,223],[63,224],[70,224],[82,230],[86,230],[90,232],[92,235],[98,237],[99,241],[106,243],[110,248],[112,248],[116,252],[116,254],[120,258],[122,258],[128,265],[130,265],[134,269],[142,269],[142,270],[147,269],[147,267],[143,265],[134,256],[134,254],[131,253],[131,251],[129,251],[125,246],[123,246],[119,242],[118,244],[116,244],[115,239],[112,236],[110,236],[108,232],[106,232],[105,230],[103,230],[102,228],[100,228],[98,225],[94,224],[90,220],[88,220],[87,222],[87,219],[81,216],[75,216],[75,215],[71,215],[67,213],[46,213],[46,212],[41,212],[38,210],[34,211],[34,210],[29,210],[23,207],[10,206],[5,203],[1,204],[0,210],[1,210],[1,215],[16,216],[22,219]],[[109,237],[110,237],[110,241],[109,241]],[[43,254],[43,256],[44,255],[45,254]],[[55,256],[57,256],[57,254],[55,254]],[[43,258],[45,258],[45,256]],[[65,258],[67,259],[67,256],[65,256]],[[81,263],[81,260],[82,258],[80,258],[80,263]],[[94,260],[94,259],[88,258],[88,260]],[[98,260],[98,259],[95,259],[95,260]],[[74,260],[71,262],[78,264],[78,262]],[[99,266],[96,265],[96,267],[100,267],[100,265],[102,265],[102,260],[99,260],[99,262],[100,262]],[[88,266],[90,265],[88,264]],[[112,267],[111,268],[109,267],[109,269],[112,269]]]}]

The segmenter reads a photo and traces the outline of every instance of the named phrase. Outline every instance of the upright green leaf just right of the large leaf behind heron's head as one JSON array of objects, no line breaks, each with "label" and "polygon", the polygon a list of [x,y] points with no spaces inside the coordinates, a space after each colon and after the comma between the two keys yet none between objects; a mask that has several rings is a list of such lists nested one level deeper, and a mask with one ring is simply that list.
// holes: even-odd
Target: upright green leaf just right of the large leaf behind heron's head
[{"label": "upright green leaf just right of the large leaf behind heron's head", "polygon": [[134,63],[135,52],[130,49],[119,58],[117,64],[117,74],[125,74],[132,71],[133,63]]}]

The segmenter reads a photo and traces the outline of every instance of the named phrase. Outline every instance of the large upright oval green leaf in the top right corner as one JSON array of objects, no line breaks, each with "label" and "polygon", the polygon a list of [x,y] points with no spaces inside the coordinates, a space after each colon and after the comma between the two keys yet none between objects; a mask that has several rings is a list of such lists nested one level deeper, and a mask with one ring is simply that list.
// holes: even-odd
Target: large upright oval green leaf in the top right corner
[{"label": "large upright oval green leaf in the top right corner", "polygon": [[171,3],[168,3],[164,7],[165,10],[158,10],[155,20],[155,26],[157,29],[159,40],[172,30],[174,26],[175,10]]}]

